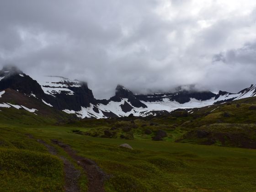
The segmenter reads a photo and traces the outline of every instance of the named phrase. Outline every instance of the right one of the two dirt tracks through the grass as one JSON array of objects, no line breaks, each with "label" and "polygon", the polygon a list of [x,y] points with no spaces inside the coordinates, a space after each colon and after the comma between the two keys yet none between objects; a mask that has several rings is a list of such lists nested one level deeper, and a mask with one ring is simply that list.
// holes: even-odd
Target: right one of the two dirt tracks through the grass
[{"label": "right one of the two dirt tracks through the grass", "polygon": [[56,139],[53,139],[52,142],[63,148],[70,157],[77,161],[78,165],[83,167],[88,178],[88,192],[105,192],[103,184],[109,176],[101,170],[96,162],[77,155],[75,150],[69,145],[61,143]]}]

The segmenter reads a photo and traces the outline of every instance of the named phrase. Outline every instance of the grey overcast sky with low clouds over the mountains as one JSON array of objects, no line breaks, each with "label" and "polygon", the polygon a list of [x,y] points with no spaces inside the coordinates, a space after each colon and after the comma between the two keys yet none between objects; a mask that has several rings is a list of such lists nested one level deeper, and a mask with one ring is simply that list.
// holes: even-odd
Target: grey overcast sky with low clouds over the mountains
[{"label": "grey overcast sky with low clouds over the mountains", "polygon": [[96,98],[256,84],[254,0],[0,0],[0,67],[85,80]]}]

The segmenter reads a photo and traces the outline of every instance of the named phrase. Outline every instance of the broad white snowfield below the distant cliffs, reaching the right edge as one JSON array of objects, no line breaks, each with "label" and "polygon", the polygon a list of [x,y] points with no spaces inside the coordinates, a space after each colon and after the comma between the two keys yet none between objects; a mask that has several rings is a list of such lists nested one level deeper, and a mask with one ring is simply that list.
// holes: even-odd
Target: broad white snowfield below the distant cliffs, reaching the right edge
[{"label": "broad white snowfield below the distant cliffs, reaching the right edge", "polygon": [[[127,90],[126,88],[123,88]],[[172,95],[179,95],[180,93],[176,92]],[[195,94],[195,93],[194,93]],[[200,93],[197,93],[200,94]],[[205,93],[201,93],[205,94]],[[148,116],[148,115],[157,115],[161,112],[171,112],[178,108],[186,109],[186,108],[199,108],[199,107],[206,107],[217,103],[224,103],[227,101],[238,100],[246,97],[251,97],[256,95],[256,85],[251,85],[251,87],[240,91],[239,93],[233,94],[228,92],[219,91],[218,95],[213,96],[208,100],[197,100],[195,98],[189,98],[188,102],[180,103],[177,101],[171,101],[170,93],[157,94],[157,98],[155,100],[160,101],[141,101],[146,107],[134,107],[133,104],[128,101],[128,98],[120,98],[120,101],[108,101],[107,104],[97,103],[96,105],[90,105],[90,107],[82,107],[80,111],[70,111],[64,110],[64,112],[74,113],[78,117],[85,118],[85,117],[95,117],[95,118],[106,118],[107,116],[104,112],[112,112],[116,114],[118,117],[128,116],[131,113],[134,116]],[[152,98],[153,96],[151,96]],[[122,106],[128,105],[130,106],[130,111],[124,111]],[[96,110],[97,109],[97,110]]]}]

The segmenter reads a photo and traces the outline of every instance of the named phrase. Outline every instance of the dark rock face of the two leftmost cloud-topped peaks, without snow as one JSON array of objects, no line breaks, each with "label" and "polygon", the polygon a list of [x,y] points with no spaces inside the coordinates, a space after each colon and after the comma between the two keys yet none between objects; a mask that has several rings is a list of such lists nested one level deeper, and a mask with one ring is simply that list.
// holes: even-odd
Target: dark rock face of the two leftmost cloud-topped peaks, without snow
[{"label": "dark rock face of the two leftmost cloud-topped peaks, without snow", "polygon": [[[16,67],[4,67],[3,70],[0,71],[0,77],[4,77],[0,80],[0,90],[11,88],[28,96],[33,94],[37,99],[43,99],[58,110],[69,109],[80,111],[81,107],[89,107],[90,103],[96,104],[96,99],[85,82],[81,82],[80,87],[68,87],[71,91],[74,91],[74,95],[61,92],[52,96],[45,94],[41,85],[39,85],[36,80],[33,80]],[[64,84],[72,85],[69,82],[64,82]],[[94,111],[97,111],[97,108],[94,108]]]}]

